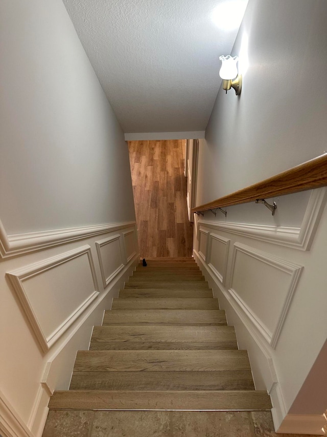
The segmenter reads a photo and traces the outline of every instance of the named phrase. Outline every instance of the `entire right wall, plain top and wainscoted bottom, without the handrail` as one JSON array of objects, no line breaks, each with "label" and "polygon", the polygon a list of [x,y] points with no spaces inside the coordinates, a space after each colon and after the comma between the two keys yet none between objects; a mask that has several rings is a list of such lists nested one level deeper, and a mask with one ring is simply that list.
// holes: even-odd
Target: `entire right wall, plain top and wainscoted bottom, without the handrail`
[{"label": "entire right wall, plain top and wainscoted bottom, without the handrail", "polygon": [[[321,88],[310,85],[313,71],[321,77],[327,67],[326,17],[323,0],[249,0],[231,53],[240,55],[243,66],[248,58],[242,93],[218,92],[205,140],[200,140],[197,205],[326,151],[327,99]],[[311,371],[320,368],[313,366],[319,353],[324,356],[327,337],[327,276],[321,261],[327,218],[322,197],[313,212],[314,193],[270,199],[277,203],[274,217],[254,202],[227,208],[227,218],[206,213],[197,230],[199,250],[195,243],[197,259],[207,267],[240,344],[249,350],[256,385],[270,391],[281,432],[314,433],[327,407]],[[291,264],[304,267],[291,301],[284,264],[286,270]],[[319,379],[322,384],[322,374]]]}]

